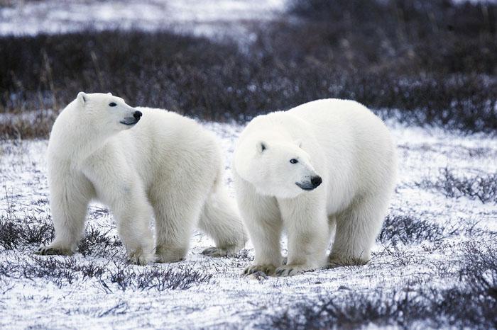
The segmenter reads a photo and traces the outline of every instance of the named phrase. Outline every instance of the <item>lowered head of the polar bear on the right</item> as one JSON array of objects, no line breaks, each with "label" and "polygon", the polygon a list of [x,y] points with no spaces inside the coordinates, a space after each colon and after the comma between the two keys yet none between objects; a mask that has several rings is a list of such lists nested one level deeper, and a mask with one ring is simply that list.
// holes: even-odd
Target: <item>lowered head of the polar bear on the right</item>
[{"label": "lowered head of the polar bear on the right", "polygon": [[250,149],[237,152],[234,166],[261,195],[295,198],[322,183],[300,142],[254,140],[250,144]]}]

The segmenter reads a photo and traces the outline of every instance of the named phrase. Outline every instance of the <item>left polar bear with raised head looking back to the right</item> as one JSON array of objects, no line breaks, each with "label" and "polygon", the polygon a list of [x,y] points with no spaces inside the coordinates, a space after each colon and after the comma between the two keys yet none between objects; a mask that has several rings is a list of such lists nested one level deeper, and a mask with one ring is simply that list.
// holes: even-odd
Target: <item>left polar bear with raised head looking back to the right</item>
[{"label": "left polar bear with raised head looking back to the right", "polygon": [[50,133],[55,239],[37,253],[72,254],[84,232],[88,203],[96,199],[109,205],[133,263],[185,258],[197,220],[217,246],[204,254],[235,254],[246,234],[223,186],[223,168],[216,138],[195,120],[131,108],[111,93],[80,92]]}]

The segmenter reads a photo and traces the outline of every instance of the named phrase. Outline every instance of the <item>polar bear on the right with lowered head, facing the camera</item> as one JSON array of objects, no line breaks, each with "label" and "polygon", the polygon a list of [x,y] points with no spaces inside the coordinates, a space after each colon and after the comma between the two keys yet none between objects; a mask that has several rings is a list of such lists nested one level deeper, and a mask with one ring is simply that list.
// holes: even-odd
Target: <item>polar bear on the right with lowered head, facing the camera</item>
[{"label": "polar bear on the right with lowered head, facing the camera", "polygon": [[256,251],[245,273],[366,263],[395,186],[395,159],[387,127],[355,101],[318,100],[253,118],[234,153],[236,200]]}]

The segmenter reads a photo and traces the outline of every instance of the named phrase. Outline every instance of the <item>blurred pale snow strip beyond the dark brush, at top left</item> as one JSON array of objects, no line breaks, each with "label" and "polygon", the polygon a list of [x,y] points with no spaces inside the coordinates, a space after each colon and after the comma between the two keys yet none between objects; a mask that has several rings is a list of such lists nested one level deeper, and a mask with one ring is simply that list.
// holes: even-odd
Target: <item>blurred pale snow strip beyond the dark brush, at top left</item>
[{"label": "blurred pale snow strip beyond the dark brush, at top left", "polygon": [[[0,6],[0,35],[65,33],[138,28],[196,35],[243,35],[254,21],[274,18],[285,0],[111,0],[6,1]],[[1,2],[0,2],[1,4]]]}]

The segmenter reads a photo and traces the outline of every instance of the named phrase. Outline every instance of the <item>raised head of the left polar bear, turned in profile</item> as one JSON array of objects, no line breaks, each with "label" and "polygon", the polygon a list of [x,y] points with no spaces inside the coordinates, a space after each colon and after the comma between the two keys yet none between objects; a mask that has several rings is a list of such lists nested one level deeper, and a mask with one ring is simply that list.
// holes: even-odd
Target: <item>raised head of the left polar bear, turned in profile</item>
[{"label": "raised head of the left polar bear, turned in profile", "polygon": [[141,118],[141,112],[111,93],[77,94],[75,100],[79,115],[84,123],[97,132],[119,132],[127,130]]}]

